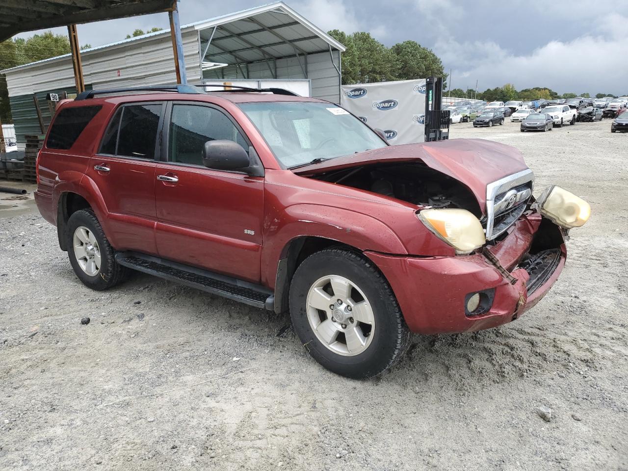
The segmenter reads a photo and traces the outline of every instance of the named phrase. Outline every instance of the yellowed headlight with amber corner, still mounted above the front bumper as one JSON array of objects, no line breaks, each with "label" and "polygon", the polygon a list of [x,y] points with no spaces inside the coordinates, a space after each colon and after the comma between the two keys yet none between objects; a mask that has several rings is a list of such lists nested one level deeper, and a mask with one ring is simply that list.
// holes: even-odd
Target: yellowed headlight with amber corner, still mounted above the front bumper
[{"label": "yellowed headlight with amber corner, still mounted above the front bumper", "polygon": [[480,220],[466,209],[424,209],[419,219],[458,255],[469,254],[486,242]]}]

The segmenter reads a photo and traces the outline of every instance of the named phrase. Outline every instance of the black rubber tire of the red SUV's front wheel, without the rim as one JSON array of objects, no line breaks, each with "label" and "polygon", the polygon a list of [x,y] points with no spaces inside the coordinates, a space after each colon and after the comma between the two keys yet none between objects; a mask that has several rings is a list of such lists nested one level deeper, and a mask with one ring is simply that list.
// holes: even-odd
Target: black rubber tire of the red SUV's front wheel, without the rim
[{"label": "black rubber tire of the red SUV's front wheel, without the rim", "polygon": [[[373,337],[357,355],[341,355],[330,350],[318,340],[308,321],[306,304],[311,286],[318,279],[333,275],[359,286],[372,307]],[[344,249],[316,252],[296,269],[290,284],[290,317],[296,335],[313,359],[332,372],[354,379],[385,371],[403,357],[410,345],[411,334],[386,278],[371,261]]]}]

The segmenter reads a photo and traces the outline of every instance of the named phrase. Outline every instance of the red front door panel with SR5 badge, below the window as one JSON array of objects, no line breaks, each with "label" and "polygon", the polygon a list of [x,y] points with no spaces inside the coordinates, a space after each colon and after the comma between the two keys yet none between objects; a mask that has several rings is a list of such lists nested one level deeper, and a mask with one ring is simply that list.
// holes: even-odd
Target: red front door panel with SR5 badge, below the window
[{"label": "red front door panel with SR5 badge, below the window", "polygon": [[179,179],[155,184],[160,256],[259,283],[264,179],[167,163],[157,174]]}]

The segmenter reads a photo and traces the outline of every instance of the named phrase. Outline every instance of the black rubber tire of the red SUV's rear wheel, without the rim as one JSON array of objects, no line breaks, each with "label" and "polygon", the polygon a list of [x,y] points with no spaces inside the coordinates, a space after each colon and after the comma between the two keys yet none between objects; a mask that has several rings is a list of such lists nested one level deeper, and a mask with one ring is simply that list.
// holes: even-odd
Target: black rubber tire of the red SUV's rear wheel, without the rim
[{"label": "black rubber tire of the red SUV's rear wheel, without the rim", "polygon": [[[77,261],[77,257],[73,250],[73,237],[75,230],[80,227],[86,227],[94,234],[98,246],[100,249],[100,270],[95,276],[90,276],[80,267]],[[70,264],[74,269],[74,273],[77,274],[78,279],[82,281],[85,286],[92,288],[92,290],[103,291],[116,286],[124,278],[126,278],[127,269],[116,262],[116,251],[107,241],[105,233],[100,227],[100,222],[96,218],[94,212],[91,209],[82,209],[70,215],[67,226],[67,247],[68,257],[70,257]]]}]

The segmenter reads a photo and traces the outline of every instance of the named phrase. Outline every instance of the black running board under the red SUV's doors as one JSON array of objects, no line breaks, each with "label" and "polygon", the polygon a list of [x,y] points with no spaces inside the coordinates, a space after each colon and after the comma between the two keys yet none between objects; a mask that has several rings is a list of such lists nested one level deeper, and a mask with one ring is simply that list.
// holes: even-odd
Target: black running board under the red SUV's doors
[{"label": "black running board under the red SUV's doors", "polygon": [[185,284],[256,308],[274,310],[273,291],[223,274],[137,252],[118,252],[117,263],[134,270]]}]

